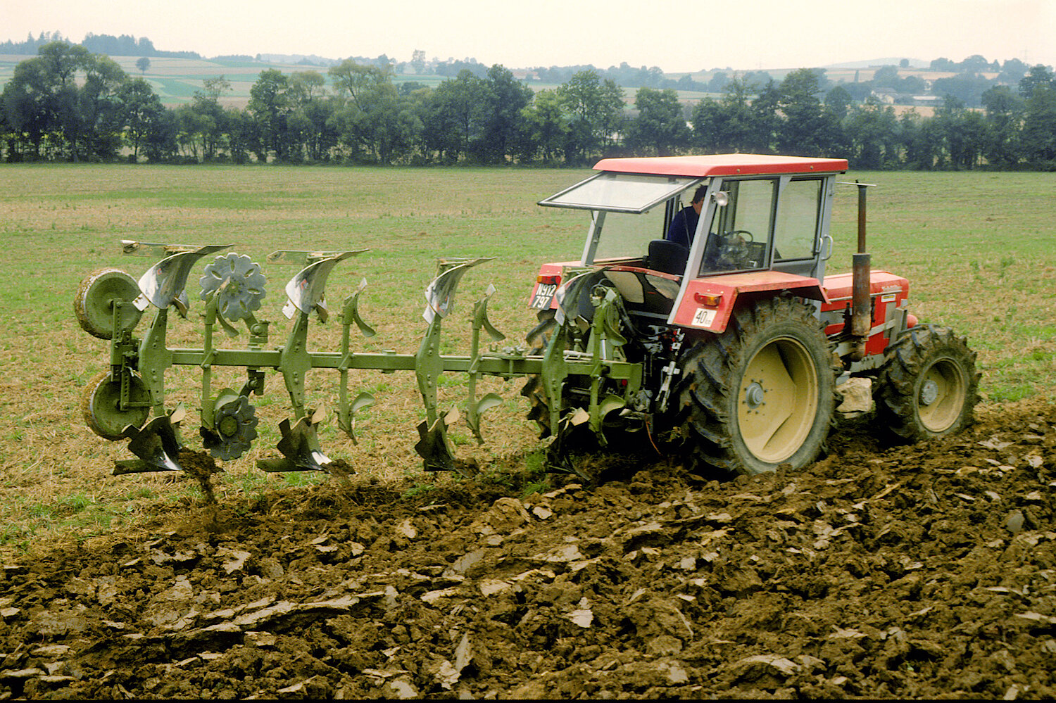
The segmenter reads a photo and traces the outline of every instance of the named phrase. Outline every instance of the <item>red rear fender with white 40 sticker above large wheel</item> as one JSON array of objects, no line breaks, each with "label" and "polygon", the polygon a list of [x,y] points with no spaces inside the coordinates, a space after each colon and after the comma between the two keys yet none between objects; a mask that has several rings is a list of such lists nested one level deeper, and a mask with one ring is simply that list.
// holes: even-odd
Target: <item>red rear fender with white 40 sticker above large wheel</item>
[{"label": "red rear fender with white 40 sticker above large wheel", "polygon": [[773,297],[781,292],[823,304],[828,302],[817,279],[782,271],[728,273],[689,281],[667,323],[721,334],[730,323],[738,298]]}]

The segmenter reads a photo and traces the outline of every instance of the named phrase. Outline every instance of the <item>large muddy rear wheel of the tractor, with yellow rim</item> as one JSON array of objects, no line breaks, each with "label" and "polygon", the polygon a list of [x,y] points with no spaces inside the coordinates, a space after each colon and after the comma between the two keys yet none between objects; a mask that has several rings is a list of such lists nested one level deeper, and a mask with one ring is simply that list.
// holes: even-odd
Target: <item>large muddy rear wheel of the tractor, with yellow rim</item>
[{"label": "large muddy rear wheel of the tractor, with yellow rim", "polygon": [[829,341],[790,298],[735,310],[727,330],[683,357],[682,439],[695,473],[754,475],[817,458],[832,421]]}]

